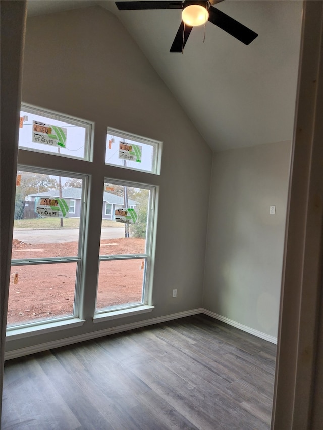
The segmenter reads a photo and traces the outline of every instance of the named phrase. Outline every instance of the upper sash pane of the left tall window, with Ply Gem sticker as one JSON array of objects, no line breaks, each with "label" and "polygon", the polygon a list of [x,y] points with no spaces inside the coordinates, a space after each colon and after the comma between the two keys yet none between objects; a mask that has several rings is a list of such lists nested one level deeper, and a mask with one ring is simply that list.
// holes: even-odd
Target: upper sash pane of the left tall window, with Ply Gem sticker
[{"label": "upper sash pane of the left tall window, with Ply Gem sticker", "polygon": [[82,179],[17,172],[14,260],[78,256],[82,187]]}]

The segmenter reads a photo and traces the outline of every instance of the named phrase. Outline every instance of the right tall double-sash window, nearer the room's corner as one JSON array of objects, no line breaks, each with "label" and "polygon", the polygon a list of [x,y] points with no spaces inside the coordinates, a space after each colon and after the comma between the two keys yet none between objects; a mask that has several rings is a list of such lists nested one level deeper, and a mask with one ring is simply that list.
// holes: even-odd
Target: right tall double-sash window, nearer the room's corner
[{"label": "right tall double-sash window, nearer the room's corner", "polygon": [[154,187],[106,181],[107,194],[115,226],[102,219],[96,314],[148,303]]}]

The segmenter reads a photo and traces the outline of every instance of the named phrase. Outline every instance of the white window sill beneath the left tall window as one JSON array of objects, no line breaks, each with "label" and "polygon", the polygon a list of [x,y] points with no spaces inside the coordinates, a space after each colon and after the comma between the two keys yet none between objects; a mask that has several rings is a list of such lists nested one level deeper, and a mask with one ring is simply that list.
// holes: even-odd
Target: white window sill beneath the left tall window
[{"label": "white window sill beneath the left tall window", "polygon": [[83,326],[85,320],[80,318],[70,318],[63,321],[51,321],[50,323],[39,323],[36,326],[26,326],[10,328],[7,330],[6,339],[16,340],[22,339],[29,336],[41,335],[46,333],[55,332],[62,329],[70,329],[74,327]]}]

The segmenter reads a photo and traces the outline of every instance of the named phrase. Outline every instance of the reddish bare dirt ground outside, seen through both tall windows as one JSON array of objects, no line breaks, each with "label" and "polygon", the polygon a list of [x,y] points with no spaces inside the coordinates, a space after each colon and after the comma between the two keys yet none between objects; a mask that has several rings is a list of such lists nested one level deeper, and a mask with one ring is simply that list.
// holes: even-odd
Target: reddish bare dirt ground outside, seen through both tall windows
[{"label": "reddish bare dirt ground outside, seen through both tall windows", "polygon": [[[101,240],[100,254],[143,253],[145,240]],[[77,243],[28,244],[14,240],[12,259],[74,256]],[[140,303],[144,259],[101,262],[96,309]],[[8,326],[73,315],[77,263],[12,266]],[[96,288],[93,285],[92,288]]]}]

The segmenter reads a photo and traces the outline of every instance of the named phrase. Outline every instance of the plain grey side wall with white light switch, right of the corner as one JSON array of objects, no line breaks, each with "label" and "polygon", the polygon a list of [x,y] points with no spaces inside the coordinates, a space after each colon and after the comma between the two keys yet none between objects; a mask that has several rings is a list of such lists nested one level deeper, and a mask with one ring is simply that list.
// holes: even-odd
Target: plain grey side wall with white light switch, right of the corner
[{"label": "plain grey side wall with white light switch, right of the corner", "polygon": [[290,150],[285,141],[223,151],[212,167],[203,305],[274,337]]}]

